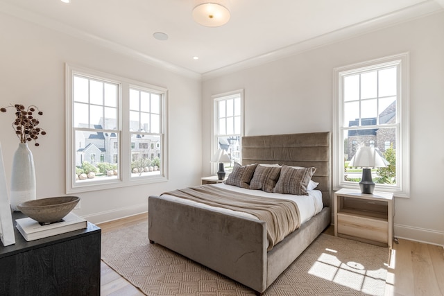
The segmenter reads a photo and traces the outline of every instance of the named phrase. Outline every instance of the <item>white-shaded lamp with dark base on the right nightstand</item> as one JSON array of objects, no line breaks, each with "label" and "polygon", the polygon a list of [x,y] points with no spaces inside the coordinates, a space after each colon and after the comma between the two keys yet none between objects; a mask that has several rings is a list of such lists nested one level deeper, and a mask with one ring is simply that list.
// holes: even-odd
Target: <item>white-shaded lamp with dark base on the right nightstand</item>
[{"label": "white-shaded lamp with dark base on the right nightstand", "polygon": [[361,193],[372,194],[375,183],[372,180],[372,168],[384,168],[388,162],[379,154],[379,150],[373,147],[361,147],[352,157],[348,166],[362,168],[362,179],[359,182]]}]

